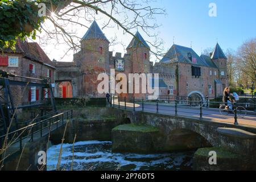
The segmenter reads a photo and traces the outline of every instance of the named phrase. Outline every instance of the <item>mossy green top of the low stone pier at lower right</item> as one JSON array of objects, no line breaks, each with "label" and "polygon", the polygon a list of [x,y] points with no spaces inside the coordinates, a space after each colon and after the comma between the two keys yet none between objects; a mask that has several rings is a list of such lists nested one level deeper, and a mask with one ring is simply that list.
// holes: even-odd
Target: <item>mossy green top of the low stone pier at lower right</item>
[{"label": "mossy green top of the low stone pier at lower right", "polygon": [[220,147],[199,148],[199,150],[196,151],[195,155],[208,157],[210,151],[216,151],[217,158],[219,158],[219,159],[239,158],[240,157],[239,155],[234,154],[234,153],[229,152],[229,151],[225,151]]}]

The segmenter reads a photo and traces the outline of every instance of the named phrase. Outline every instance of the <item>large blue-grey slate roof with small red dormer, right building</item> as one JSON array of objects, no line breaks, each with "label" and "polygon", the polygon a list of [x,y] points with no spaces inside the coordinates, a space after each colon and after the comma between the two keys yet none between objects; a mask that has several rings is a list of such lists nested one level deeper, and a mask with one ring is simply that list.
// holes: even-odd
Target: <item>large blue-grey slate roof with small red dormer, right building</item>
[{"label": "large blue-grey slate roof with small red dormer, right building", "polygon": [[[188,55],[192,56],[192,58],[196,58],[196,64],[192,63],[192,61],[189,59]],[[179,62],[179,63],[188,63],[188,64],[195,64],[195,65],[202,65],[205,67],[209,67],[208,64],[205,63],[204,60],[197,55],[195,51],[193,51],[192,48],[179,46],[174,44],[170,50],[166,53],[166,55],[161,60],[163,63],[173,63],[173,62]]]}]

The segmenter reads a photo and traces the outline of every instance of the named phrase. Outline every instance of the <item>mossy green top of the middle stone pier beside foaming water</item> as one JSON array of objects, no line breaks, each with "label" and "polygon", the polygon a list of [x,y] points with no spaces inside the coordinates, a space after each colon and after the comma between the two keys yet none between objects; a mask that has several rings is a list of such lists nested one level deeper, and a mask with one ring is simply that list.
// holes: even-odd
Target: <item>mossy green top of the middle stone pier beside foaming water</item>
[{"label": "mossy green top of the middle stone pier beside foaming water", "polygon": [[119,125],[115,127],[113,130],[126,130],[126,131],[139,131],[139,132],[159,131],[158,129],[152,126],[135,125],[135,124]]}]

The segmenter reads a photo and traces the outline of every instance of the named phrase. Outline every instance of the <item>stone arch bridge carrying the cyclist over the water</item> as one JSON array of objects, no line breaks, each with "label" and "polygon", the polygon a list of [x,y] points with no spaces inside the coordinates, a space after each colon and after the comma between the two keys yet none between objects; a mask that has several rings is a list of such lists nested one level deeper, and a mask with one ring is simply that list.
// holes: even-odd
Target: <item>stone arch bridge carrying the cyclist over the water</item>
[{"label": "stone arch bridge carrying the cyclist over the water", "polygon": [[[122,113],[130,119],[131,123],[149,125],[159,129],[159,133],[164,136],[163,139],[155,141],[156,148],[162,148],[160,151],[193,148],[213,148],[212,150],[217,148],[219,150],[220,148],[221,151],[230,152],[229,155],[234,154],[241,159],[233,165],[236,167],[231,169],[241,169],[237,166],[243,166],[242,169],[255,169],[256,127],[145,111],[134,113],[134,111],[122,110]],[[201,160],[201,156],[199,159]],[[197,161],[197,163],[200,162]],[[225,165],[227,163],[233,164],[234,160],[225,160]],[[201,168],[201,166],[196,169],[230,169],[223,166],[209,167],[208,154],[205,156],[203,165],[208,167]]]}]

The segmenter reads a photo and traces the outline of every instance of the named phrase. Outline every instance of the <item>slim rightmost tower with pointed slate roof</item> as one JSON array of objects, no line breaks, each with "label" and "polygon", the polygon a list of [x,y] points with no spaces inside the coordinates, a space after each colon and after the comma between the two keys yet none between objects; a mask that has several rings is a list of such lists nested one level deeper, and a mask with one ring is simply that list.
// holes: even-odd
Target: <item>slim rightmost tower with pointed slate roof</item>
[{"label": "slim rightmost tower with pointed slate roof", "polygon": [[210,59],[212,59],[213,63],[218,68],[218,74],[220,81],[222,82],[222,87],[225,88],[226,86],[229,86],[226,66],[227,58],[218,43],[216,44],[214,51],[211,53]]}]

